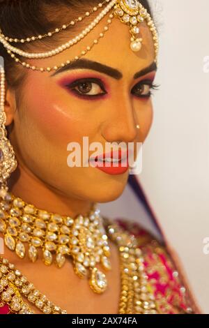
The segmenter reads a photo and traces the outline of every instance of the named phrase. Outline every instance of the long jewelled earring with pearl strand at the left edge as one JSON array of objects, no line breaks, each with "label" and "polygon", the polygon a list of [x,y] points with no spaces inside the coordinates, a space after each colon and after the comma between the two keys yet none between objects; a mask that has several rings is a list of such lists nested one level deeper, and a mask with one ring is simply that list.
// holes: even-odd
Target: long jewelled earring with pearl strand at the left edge
[{"label": "long jewelled earring with pearl strand at the left edge", "polygon": [[[2,59],[2,57],[0,57]],[[15,159],[15,152],[13,146],[8,140],[6,131],[6,113],[4,111],[5,104],[5,71],[0,60],[0,184],[8,190],[6,180],[10,174],[17,168],[17,161]],[[2,187],[1,186],[1,187]]]}]

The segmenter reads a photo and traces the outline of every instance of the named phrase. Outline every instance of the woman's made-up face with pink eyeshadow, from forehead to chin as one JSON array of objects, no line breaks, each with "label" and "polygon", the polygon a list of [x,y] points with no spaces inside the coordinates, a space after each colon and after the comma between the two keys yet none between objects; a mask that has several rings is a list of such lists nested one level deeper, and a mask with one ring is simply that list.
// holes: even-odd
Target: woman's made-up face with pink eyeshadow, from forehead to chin
[{"label": "woman's made-up face with pink eyeshadow, from forehead to chin", "polygon": [[[98,24],[86,38],[61,54],[28,62],[39,67],[59,65],[91,45],[101,30]],[[153,39],[144,23],[141,33],[141,51],[132,52],[129,27],[114,18],[104,38],[82,57],[111,67],[102,72],[95,70],[100,65],[68,68],[56,74],[26,71],[21,96],[17,94],[10,137],[17,162],[47,186],[69,197],[93,202],[109,202],[123,192],[129,170],[108,174],[91,165],[69,167],[67,147],[70,142],[77,142],[83,151],[84,136],[89,144],[100,142],[104,152],[106,142],[128,144],[146,139],[153,120],[149,85],[153,84],[155,66]],[[66,40],[72,37],[67,36]],[[148,73],[134,77],[146,68]]]}]

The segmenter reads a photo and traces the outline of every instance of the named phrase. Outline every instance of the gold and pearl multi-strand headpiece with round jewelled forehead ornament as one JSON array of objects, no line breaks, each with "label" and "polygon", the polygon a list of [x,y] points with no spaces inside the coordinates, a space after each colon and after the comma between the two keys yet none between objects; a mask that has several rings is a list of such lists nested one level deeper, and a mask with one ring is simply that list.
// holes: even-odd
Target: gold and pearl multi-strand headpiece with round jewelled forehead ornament
[{"label": "gold and pearl multi-strand headpiece with round jewelled forehead ornament", "polygon": [[[107,6],[101,11],[101,13],[98,14],[97,17],[91,22],[91,24],[86,27],[79,35],[75,36],[75,38],[72,38],[68,40],[68,42],[64,43],[63,45],[60,45],[59,47],[56,47],[54,50],[50,50],[49,52],[40,52],[40,53],[31,53],[31,52],[25,52],[24,50],[20,50],[17,47],[14,47],[13,45],[10,45],[10,42],[13,43],[29,43],[34,40],[41,40],[45,37],[51,37],[54,35],[54,33],[59,33],[60,31],[63,31],[65,29],[68,29],[68,27],[72,27],[77,22],[81,22],[84,20],[84,17],[91,15],[91,13],[94,13],[98,10],[98,8],[102,8],[104,6],[104,3],[107,3]],[[88,45],[85,50],[82,50],[81,54],[78,56],[75,56],[74,59],[67,60],[61,65],[57,65],[54,67],[37,67],[37,66],[31,66],[30,64],[27,64],[24,61],[21,61],[19,58],[15,56],[15,54],[19,55],[20,57],[25,57],[28,59],[42,59],[42,58],[48,58],[52,57],[56,54],[59,54],[63,52],[64,50],[72,47],[72,45],[77,44],[80,40],[85,38],[88,33],[90,33],[94,27],[102,20],[102,18],[109,13],[111,8],[114,7],[113,13],[109,14],[109,19],[107,20],[107,25],[104,26],[104,29],[101,33],[99,33],[98,38],[93,40],[93,43],[91,45]],[[150,14],[147,12],[146,8],[142,6],[141,3],[139,3],[138,0],[105,0],[102,3],[98,3],[97,7],[94,7],[91,11],[87,11],[83,17],[78,17],[76,20],[71,21],[68,24],[63,24],[62,27],[56,28],[54,31],[50,31],[45,35],[39,35],[39,36],[31,36],[26,39],[17,39],[17,38],[10,38],[9,36],[4,36],[3,32],[0,29],[0,43],[2,43],[3,47],[6,48],[8,54],[15,59],[15,61],[19,64],[22,64],[22,66],[25,66],[26,68],[31,68],[33,70],[40,70],[41,72],[51,70],[57,70],[60,67],[63,67],[67,64],[70,64],[71,61],[75,61],[79,59],[80,57],[84,56],[88,51],[92,49],[92,47],[98,43],[100,38],[104,36],[104,33],[106,33],[109,29],[109,25],[111,24],[113,17],[118,17],[121,22],[127,24],[130,26],[130,34],[131,34],[131,43],[130,47],[132,51],[138,52],[141,50],[142,45],[142,38],[139,37],[140,29],[137,26],[139,23],[147,22],[148,27],[153,34],[153,41],[154,41],[154,47],[155,47],[155,61],[157,61],[157,52],[158,52],[158,38],[157,38],[157,30],[155,28],[155,24],[150,17]]]}]

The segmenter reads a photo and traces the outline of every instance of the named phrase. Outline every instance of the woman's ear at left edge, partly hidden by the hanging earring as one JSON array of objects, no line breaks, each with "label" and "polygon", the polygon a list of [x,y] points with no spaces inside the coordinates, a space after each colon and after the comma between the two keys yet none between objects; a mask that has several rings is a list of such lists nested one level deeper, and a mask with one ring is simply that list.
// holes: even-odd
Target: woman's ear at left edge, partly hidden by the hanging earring
[{"label": "woman's ear at left edge, partly hidden by the hanging earring", "polygon": [[15,110],[16,110],[16,98],[15,98],[15,91],[13,89],[8,88],[7,82],[5,82],[5,89],[6,89],[6,98],[4,103],[4,111],[6,113],[6,126],[12,124]]}]

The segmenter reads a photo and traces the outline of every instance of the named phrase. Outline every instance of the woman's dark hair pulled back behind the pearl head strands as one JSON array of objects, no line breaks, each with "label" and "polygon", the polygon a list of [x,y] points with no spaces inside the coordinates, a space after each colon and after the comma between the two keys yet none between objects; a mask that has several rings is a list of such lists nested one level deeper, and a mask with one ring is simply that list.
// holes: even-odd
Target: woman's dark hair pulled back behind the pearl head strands
[{"label": "woman's dark hair pulled back behind the pearl head strands", "polygon": [[[62,24],[75,20],[90,10],[93,6],[97,6],[99,0],[0,0],[0,28],[5,36],[10,38],[27,38],[29,36],[37,36],[53,31]],[[147,0],[141,0],[141,4],[148,9],[150,7]],[[97,13],[93,13],[97,15]],[[86,17],[85,22],[91,22],[92,15]],[[88,23],[89,23],[88,22]],[[88,24],[87,23],[87,24]],[[86,23],[85,23],[86,24]],[[75,27],[70,27],[70,31],[75,33]],[[80,24],[79,30],[80,31]],[[38,44],[39,50],[52,48],[54,45],[60,45],[61,38],[65,31],[55,33],[50,38],[33,41]],[[14,43],[11,43],[14,45]],[[29,50],[33,45],[31,43],[18,43],[20,49]],[[16,64],[14,59],[6,52],[0,43],[0,56],[4,58],[4,67],[6,70],[6,81],[8,85],[14,89],[20,87],[23,81],[26,68],[22,68],[20,64]]]}]

